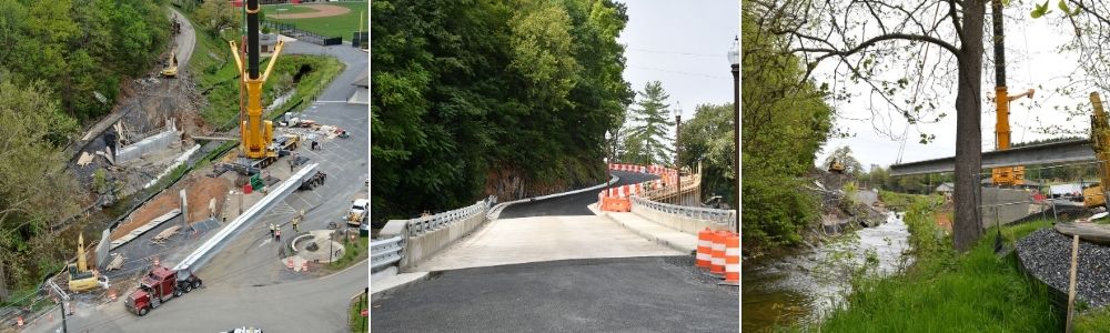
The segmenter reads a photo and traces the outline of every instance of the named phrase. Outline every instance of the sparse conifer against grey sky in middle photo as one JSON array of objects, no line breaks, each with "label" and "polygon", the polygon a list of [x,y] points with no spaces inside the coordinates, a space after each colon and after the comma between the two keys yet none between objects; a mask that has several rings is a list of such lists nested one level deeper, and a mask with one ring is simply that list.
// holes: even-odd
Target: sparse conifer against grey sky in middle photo
[{"label": "sparse conifer against grey sky in middle photo", "polygon": [[663,90],[663,83],[650,81],[644,84],[644,90],[638,92],[640,99],[636,102],[639,108],[632,109],[633,122],[627,123],[627,141],[635,142],[636,154],[630,155],[632,163],[639,164],[664,164],[674,161],[674,149],[667,139],[667,129],[675,125],[670,121],[670,98]]}]

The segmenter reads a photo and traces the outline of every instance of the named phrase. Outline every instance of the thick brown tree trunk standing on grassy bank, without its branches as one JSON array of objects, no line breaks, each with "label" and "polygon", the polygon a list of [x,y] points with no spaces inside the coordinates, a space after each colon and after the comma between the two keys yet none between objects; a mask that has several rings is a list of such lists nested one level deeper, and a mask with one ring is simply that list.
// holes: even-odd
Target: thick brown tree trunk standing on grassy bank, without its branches
[{"label": "thick brown tree trunk standing on grassy bank, without its branches", "polygon": [[[960,43],[959,87],[956,94],[956,221],[952,241],[956,251],[965,252],[982,234],[979,223],[979,171],[982,133],[982,38],[986,21],[985,0],[965,1],[963,40]],[[1005,98],[1005,97],[1002,97]]]}]

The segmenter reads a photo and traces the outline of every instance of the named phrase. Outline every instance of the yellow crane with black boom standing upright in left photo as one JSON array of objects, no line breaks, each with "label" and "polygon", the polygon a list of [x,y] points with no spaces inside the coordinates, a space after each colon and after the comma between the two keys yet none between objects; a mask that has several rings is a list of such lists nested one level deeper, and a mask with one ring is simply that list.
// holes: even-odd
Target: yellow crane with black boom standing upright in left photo
[{"label": "yellow crane with black boom standing upright in left photo", "polygon": [[[245,100],[245,105],[241,105],[240,114],[240,151],[242,155],[261,160],[261,167],[266,167],[278,159],[278,150],[270,145],[273,142],[273,122],[262,118],[262,84],[266,82],[270,73],[274,69],[278,54],[285,46],[279,40],[274,46],[273,54],[270,57],[270,64],[266,71],[259,74],[259,0],[246,1],[246,63],[240,57],[240,49],[235,41],[228,41],[231,52],[235,58],[235,65],[239,68],[240,99]],[[245,109],[245,112],[244,110]]]}]

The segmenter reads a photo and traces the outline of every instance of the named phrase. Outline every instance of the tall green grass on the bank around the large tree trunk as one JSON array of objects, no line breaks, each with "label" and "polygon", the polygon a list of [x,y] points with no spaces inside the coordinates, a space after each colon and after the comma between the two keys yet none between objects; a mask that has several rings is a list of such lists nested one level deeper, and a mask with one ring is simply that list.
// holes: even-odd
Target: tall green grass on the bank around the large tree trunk
[{"label": "tall green grass on the bank around the large tree trunk", "polygon": [[[908,206],[905,221],[917,262],[898,276],[854,281],[854,291],[844,304],[847,306],[833,311],[814,331],[1060,330],[1061,319],[1049,301],[1048,290],[1026,281],[1013,256],[995,255],[993,229],[988,230],[975,249],[958,254],[951,250],[951,238],[940,232],[932,220],[938,204],[934,196],[884,194],[884,200]],[[1003,226],[1001,234],[1012,245],[1015,240],[1048,225],[1049,221],[1037,221]]]}]

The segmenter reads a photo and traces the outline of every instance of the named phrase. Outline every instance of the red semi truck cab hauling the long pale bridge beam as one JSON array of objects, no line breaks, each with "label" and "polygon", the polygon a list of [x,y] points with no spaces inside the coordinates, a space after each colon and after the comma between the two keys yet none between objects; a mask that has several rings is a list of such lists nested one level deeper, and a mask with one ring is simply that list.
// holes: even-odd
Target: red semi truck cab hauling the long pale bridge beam
[{"label": "red semi truck cab hauling the long pale bridge beam", "polygon": [[151,309],[200,287],[202,283],[201,279],[191,272],[173,271],[164,266],[155,268],[142,278],[139,287],[128,295],[123,304],[131,313],[147,315]]}]

